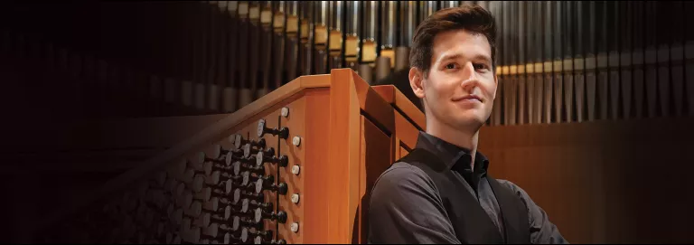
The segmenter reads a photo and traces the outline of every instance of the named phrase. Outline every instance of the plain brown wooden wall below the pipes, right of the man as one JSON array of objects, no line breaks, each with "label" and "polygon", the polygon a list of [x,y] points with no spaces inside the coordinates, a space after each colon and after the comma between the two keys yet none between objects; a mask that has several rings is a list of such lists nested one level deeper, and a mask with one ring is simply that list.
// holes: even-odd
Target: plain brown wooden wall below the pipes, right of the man
[{"label": "plain brown wooden wall below the pipes, right of the man", "polygon": [[[659,118],[483,127],[479,149],[490,158],[490,173],[529,193],[570,242],[684,242],[694,218],[686,206],[694,203],[681,199],[672,207],[661,197],[694,187],[680,181],[694,170],[686,150],[694,146],[691,123]],[[659,184],[644,179],[654,171]]]}]

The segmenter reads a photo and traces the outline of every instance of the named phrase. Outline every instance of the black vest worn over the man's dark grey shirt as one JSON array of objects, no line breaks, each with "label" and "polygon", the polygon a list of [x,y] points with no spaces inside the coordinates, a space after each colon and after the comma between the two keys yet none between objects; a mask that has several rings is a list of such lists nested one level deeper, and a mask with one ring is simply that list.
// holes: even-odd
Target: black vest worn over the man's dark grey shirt
[{"label": "black vest worn over the man's dark grey shirt", "polygon": [[421,148],[404,156],[405,162],[422,169],[436,184],[455,237],[463,243],[530,243],[530,224],[525,204],[511,190],[487,174],[501,210],[504,236],[484,212],[474,195],[465,189],[436,155]]}]

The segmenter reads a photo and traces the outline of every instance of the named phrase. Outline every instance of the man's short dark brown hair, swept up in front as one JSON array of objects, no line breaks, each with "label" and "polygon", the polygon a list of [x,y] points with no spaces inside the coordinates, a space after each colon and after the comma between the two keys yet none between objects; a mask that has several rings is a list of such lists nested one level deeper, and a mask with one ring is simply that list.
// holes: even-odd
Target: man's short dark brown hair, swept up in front
[{"label": "man's short dark brown hair, swept up in front", "polygon": [[415,31],[409,52],[409,66],[417,67],[426,77],[431,69],[431,56],[434,55],[432,45],[436,34],[461,29],[482,34],[487,38],[492,48],[493,68],[496,55],[496,23],[492,14],[479,5],[446,8],[427,17]]}]

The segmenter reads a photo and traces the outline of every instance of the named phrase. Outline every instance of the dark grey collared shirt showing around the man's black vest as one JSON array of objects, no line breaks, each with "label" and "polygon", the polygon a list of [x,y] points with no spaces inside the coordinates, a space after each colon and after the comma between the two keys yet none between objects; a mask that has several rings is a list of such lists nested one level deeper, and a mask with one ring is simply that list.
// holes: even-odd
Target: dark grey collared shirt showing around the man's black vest
[{"label": "dark grey collared shirt showing around the man's black vest", "polygon": [[[467,189],[461,194],[474,195],[499,232],[504,234],[499,203],[487,181],[489,160],[484,155],[475,154],[473,169],[469,150],[425,132],[420,132],[416,147],[438,155]],[[525,203],[532,243],[567,243],[528,193],[509,181],[498,181]],[[408,163],[395,163],[380,175],[371,192],[369,242],[461,243],[446,215],[449,212],[442,204],[436,184],[423,170]]]}]

